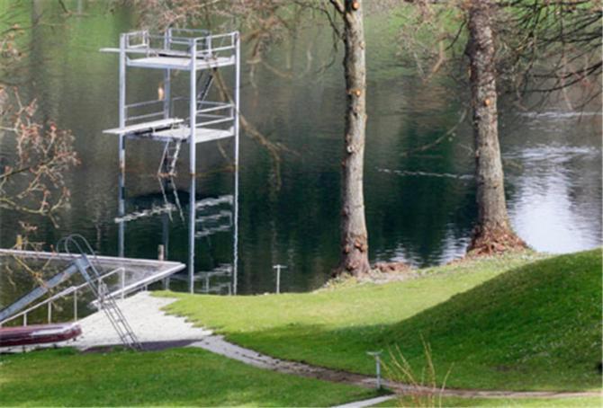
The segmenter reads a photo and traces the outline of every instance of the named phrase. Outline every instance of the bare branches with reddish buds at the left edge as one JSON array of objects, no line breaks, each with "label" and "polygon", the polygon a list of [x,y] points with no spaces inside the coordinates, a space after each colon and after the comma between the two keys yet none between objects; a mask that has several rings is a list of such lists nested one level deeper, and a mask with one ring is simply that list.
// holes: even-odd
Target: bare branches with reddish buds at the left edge
[{"label": "bare branches with reddish buds at the left edge", "polygon": [[15,41],[21,31],[14,25],[0,37],[0,137],[11,152],[0,155],[0,208],[49,217],[56,226],[56,212],[69,200],[65,173],[79,160],[71,132],[40,124],[36,101],[23,102],[17,87],[5,85],[8,68],[23,57]]}]

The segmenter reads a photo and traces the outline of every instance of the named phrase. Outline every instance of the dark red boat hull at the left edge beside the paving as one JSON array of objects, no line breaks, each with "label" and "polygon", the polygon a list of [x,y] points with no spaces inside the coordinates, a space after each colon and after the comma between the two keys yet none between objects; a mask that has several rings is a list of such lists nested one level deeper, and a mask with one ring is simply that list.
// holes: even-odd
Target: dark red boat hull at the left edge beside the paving
[{"label": "dark red boat hull at the left edge beside the paving", "polygon": [[0,347],[27,346],[67,341],[82,334],[78,324],[33,324],[20,327],[0,327]]}]

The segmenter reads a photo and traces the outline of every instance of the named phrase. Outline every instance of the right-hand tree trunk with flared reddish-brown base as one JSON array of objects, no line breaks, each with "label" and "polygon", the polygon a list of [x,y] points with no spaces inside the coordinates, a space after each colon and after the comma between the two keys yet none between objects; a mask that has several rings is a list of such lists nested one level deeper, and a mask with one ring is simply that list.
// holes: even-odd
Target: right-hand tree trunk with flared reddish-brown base
[{"label": "right-hand tree trunk with flared reddish-brown base", "polygon": [[478,206],[478,222],[469,246],[469,252],[473,253],[502,252],[525,247],[509,224],[505,201],[491,27],[494,7],[492,0],[472,0],[469,5],[469,42],[465,50],[471,65]]}]

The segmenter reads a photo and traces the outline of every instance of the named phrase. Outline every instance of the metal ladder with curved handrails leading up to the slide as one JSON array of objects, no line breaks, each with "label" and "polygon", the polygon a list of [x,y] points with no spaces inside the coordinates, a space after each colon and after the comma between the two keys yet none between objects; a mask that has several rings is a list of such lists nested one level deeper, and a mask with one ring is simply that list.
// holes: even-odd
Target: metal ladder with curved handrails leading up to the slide
[{"label": "metal ladder with curved handrails leading up to the slide", "polygon": [[[96,297],[98,307],[103,310],[104,315],[106,315],[109,322],[111,322],[113,329],[120,337],[121,343],[131,350],[142,350],[142,346],[136,337],[136,334],[121,312],[117,302],[113,297],[106,296],[108,293],[106,284],[102,281],[101,274],[94,266],[94,263],[97,262],[96,255],[84,236],[78,234],[68,235],[58,241],[57,248],[60,249],[61,246],[65,253],[77,256],[74,261],[77,270],[88,283],[94,297]],[[71,253],[71,247],[75,247],[76,254]],[[88,255],[92,257],[94,262],[91,261]]]}]

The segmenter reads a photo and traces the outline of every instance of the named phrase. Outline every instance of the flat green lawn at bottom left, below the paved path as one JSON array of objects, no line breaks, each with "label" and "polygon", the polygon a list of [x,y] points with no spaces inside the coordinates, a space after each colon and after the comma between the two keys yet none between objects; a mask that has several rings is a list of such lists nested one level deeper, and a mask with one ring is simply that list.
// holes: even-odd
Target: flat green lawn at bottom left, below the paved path
[{"label": "flat green lawn at bottom left, below the paved path", "polygon": [[278,374],[201,349],[0,356],[2,405],[327,406],[375,392]]}]

